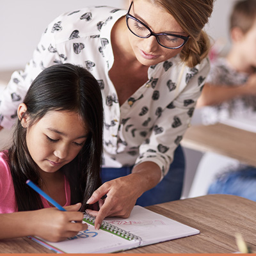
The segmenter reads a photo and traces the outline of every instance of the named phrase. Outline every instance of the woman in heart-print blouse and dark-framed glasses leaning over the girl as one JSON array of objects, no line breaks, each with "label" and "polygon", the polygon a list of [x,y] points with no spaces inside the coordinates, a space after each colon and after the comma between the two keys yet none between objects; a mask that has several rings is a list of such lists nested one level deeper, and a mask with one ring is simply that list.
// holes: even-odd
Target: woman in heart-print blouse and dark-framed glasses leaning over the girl
[{"label": "woman in heart-print blouse and dark-framed glasses leaning over the girl", "polygon": [[97,225],[105,216],[129,216],[136,202],[180,198],[179,143],[209,72],[202,29],[213,2],[130,0],[128,13],[106,6],[65,13],[1,97],[0,125],[11,127],[19,98],[42,68],[76,63],[96,77],[104,99],[104,184],[88,203],[107,195],[100,211],[91,212]]}]

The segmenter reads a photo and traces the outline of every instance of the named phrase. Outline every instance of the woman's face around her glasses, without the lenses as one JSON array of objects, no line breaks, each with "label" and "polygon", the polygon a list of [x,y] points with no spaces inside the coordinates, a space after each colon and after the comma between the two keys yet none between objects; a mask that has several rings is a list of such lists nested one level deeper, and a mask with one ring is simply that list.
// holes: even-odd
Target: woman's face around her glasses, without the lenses
[{"label": "woman's face around her glasses, without the lenses", "polygon": [[[131,2],[130,2],[131,3]],[[170,13],[157,4],[148,0],[135,0],[130,14],[146,24],[154,33],[173,33],[188,36],[179,23]],[[159,45],[155,36],[140,38],[128,31],[129,42],[138,61],[142,65],[156,65],[166,61],[182,51],[179,49],[166,49]]]}]

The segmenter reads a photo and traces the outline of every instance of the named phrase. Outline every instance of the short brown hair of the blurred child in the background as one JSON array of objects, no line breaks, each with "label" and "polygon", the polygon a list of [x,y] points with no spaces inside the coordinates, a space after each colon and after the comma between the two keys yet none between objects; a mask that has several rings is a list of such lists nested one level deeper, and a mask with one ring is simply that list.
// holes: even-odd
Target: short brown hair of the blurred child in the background
[{"label": "short brown hair of the blurred child in the background", "polygon": [[237,1],[230,15],[230,30],[240,28],[246,34],[253,26],[256,18],[256,0]]}]

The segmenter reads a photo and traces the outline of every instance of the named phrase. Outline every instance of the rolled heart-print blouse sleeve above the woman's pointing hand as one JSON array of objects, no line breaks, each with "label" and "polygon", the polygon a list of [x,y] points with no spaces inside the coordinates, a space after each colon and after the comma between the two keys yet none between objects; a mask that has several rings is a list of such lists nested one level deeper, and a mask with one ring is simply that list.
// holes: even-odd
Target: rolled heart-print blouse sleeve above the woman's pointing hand
[{"label": "rolled heart-print blouse sleeve above the woman's pointing hand", "polygon": [[162,179],[173,161],[175,148],[190,125],[196,100],[209,73],[209,60],[205,59],[196,68],[190,69],[193,71],[193,76],[188,70],[189,68],[186,68],[184,71],[181,82],[186,83],[186,86],[180,88],[181,91],[177,97],[163,109],[148,140],[140,146],[140,156],[136,160],[136,164],[145,161],[158,164],[162,171]]}]

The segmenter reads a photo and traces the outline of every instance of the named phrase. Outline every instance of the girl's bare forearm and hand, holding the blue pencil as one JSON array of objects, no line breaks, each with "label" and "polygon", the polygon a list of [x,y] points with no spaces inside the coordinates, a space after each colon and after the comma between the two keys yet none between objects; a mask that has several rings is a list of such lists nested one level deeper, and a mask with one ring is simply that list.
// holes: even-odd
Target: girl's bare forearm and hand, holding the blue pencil
[{"label": "girl's bare forearm and hand, holding the blue pencil", "polygon": [[[0,214],[0,239],[24,236],[38,236],[51,242],[76,236],[88,226],[82,223],[83,212],[78,212],[81,204],[64,207],[67,211],[45,208]],[[76,223],[74,222],[76,221]]]}]

